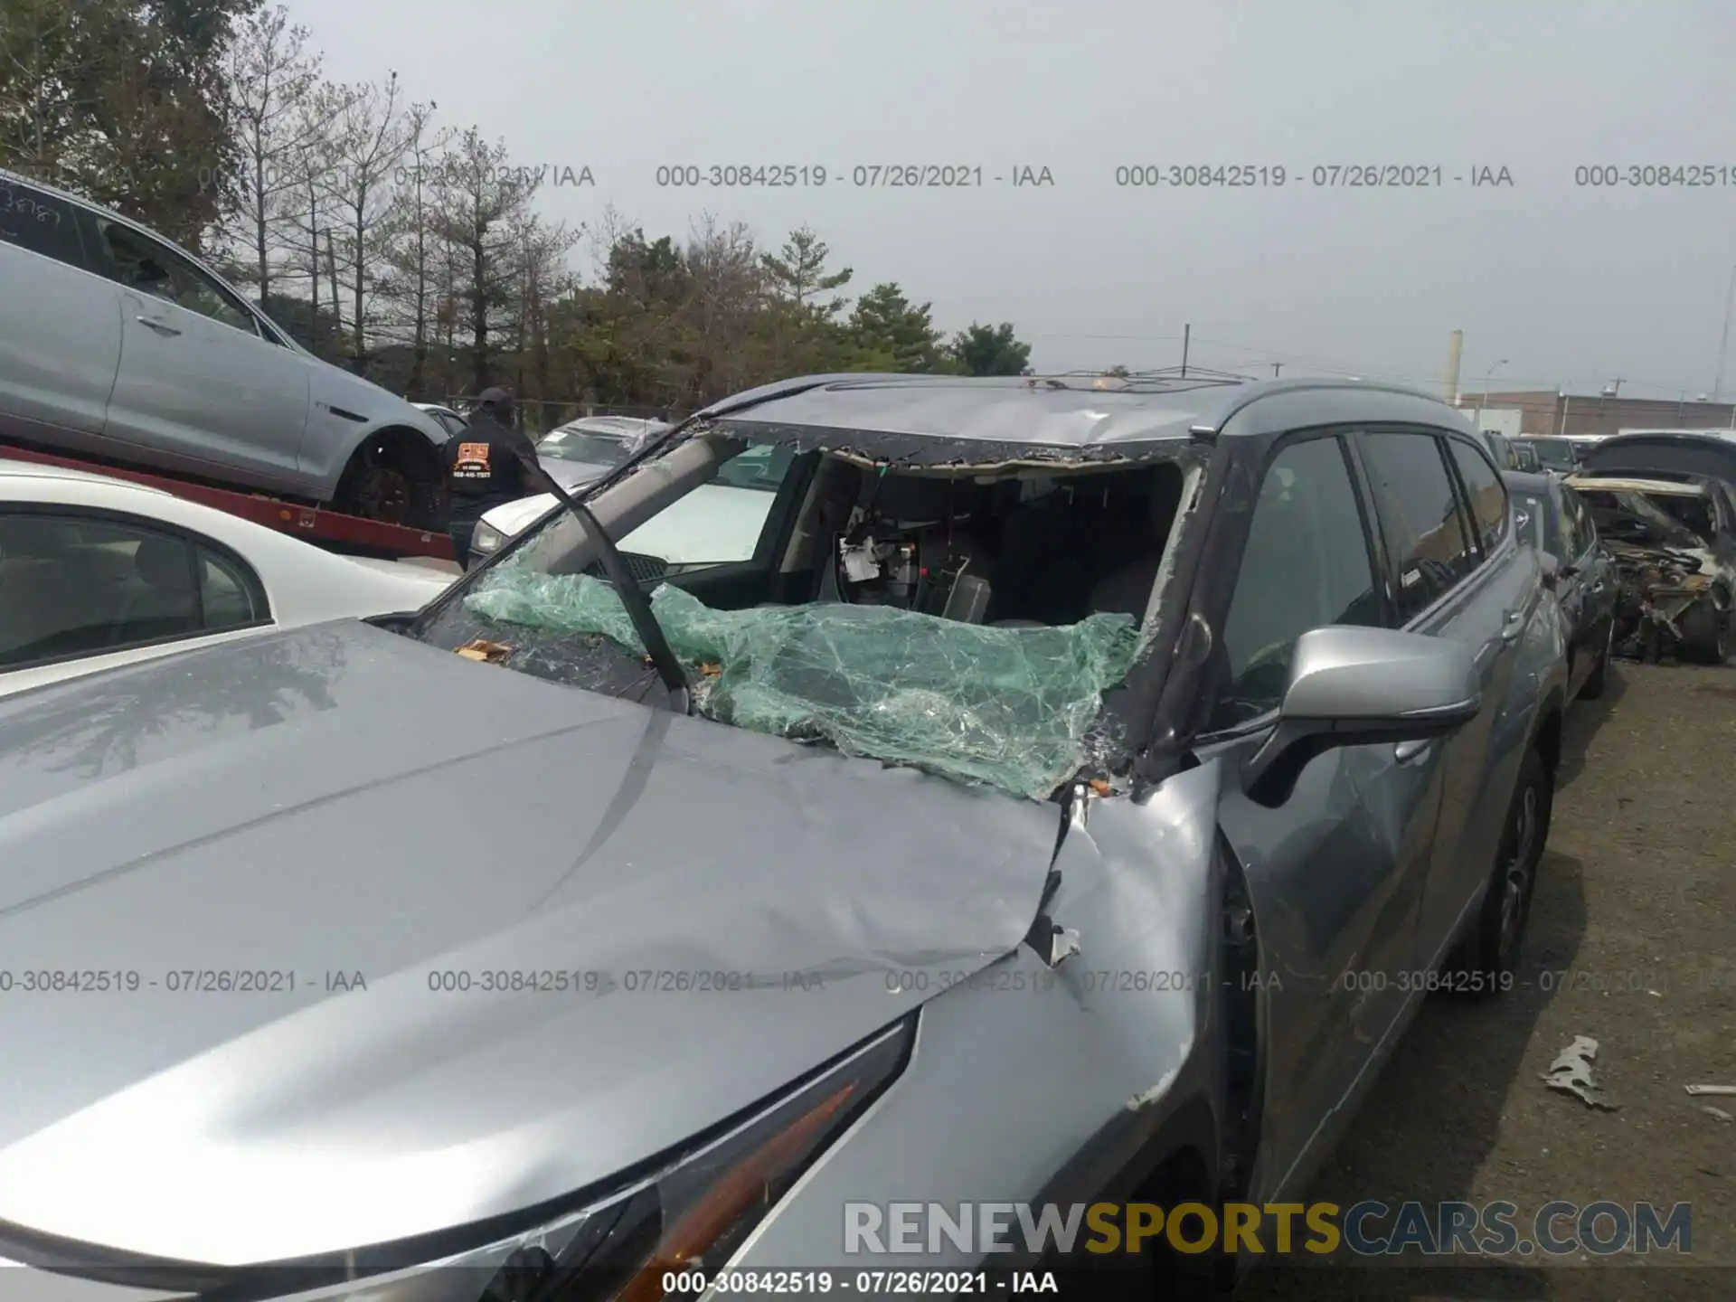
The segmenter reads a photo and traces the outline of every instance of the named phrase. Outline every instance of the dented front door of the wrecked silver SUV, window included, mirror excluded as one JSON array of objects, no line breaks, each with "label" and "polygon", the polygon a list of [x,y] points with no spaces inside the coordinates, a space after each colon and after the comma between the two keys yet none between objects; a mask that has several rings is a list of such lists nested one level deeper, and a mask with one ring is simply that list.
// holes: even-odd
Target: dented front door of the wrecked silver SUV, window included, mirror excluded
[{"label": "dented front door of the wrecked silver SUV, window included, mirror excluded", "polygon": [[[1309,431],[1266,464],[1222,620],[1227,689],[1196,741],[1229,771],[1276,724],[1302,634],[1389,623],[1345,443]],[[1257,1201],[1333,1142],[1399,1029],[1439,804],[1439,750],[1391,743],[1316,757],[1276,809],[1226,783],[1219,823],[1248,880],[1266,1002]]]}]

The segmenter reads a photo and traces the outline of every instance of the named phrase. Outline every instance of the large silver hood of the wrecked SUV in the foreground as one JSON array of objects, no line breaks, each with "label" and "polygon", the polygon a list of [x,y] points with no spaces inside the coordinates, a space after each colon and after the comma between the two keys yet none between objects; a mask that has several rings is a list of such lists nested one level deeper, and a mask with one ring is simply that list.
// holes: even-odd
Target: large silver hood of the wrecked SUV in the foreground
[{"label": "large silver hood of the wrecked SUV in the foreground", "polygon": [[0,1220],[247,1264],[571,1193],[1017,948],[1055,835],[349,621],[26,693]]}]

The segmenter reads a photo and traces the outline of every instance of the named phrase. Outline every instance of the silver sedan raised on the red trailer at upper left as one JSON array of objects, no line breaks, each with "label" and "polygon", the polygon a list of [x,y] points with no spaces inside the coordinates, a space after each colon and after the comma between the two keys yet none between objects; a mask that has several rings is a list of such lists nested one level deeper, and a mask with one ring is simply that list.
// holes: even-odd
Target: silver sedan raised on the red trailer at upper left
[{"label": "silver sedan raised on the red trailer at upper left", "polygon": [[182,248],[0,172],[0,439],[425,526],[446,427]]}]

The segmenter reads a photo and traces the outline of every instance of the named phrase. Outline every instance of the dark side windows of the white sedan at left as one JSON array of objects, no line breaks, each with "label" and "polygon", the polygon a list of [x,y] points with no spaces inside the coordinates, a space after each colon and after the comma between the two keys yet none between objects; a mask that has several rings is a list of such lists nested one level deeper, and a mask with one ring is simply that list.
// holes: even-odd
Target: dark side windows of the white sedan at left
[{"label": "dark side windows of the white sedan at left", "polygon": [[259,576],[191,538],[122,519],[0,512],[0,668],[266,618]]}]

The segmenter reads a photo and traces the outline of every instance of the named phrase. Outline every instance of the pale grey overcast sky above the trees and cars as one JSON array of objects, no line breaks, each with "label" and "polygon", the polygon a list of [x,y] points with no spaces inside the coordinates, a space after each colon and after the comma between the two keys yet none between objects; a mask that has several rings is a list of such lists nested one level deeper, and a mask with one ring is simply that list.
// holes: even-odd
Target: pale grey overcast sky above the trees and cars
[{"label": "pale grey overcast sky above the trees and cars", "polygon": [[[851,288],[937,325],[1012,321],[1040,370],[1189,361],[1623,394],[1712,389],[1736,262],[1729,0],[288,0],[339,80],[396,68],[439,118],[649,236],[712,212],[812,226]],[[983,168],[969,189],[851,184]],[[1116,184],[1118,167],[1283,167],[1283,187]],[[1694,165],[1700,189],[1587,187]],[[825,167],[823,187],[677,189],[660,165]],[[1441,187],[1314,187],[1332,165]],[[1052,186],[1014,187],[1016,168]],[[1510,186],[1472,186],[1474,168]],[[1722,177],[1717,175],[1722,168]],[[554,172],[550,174],[554,175]],[[996,182],[995,177],[1007,177]],[[1455,177],[1462,177],[1455,181]],[[589,267],[589,257],[582,257]],[[1736,389],[1736,361],[1726,391]]]}]

